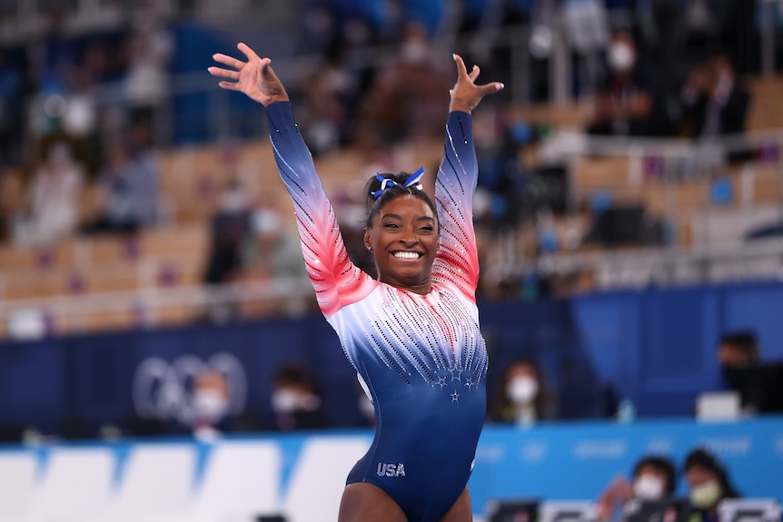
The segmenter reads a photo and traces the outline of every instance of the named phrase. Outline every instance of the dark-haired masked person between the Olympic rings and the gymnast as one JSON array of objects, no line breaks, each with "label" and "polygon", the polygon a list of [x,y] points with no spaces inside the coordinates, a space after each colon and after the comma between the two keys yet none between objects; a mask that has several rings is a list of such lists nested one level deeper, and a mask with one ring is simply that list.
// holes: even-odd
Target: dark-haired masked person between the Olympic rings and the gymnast
[{"label": "dark-haired masked person between the Olympic rings and the gymnast", "polygon": [[309,369],[283,366],[274,375],[272,392],[274,428],[326,428],[327,420],[319,386]]}]

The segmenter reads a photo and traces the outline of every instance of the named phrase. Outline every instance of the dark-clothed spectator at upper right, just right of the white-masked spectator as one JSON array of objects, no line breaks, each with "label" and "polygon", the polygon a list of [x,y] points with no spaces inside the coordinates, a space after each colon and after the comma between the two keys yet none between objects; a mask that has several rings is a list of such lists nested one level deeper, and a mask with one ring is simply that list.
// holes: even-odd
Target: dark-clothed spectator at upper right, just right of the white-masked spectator
[{"label": "dark-clothed spectator at upper right, just right of the white-masked spectator", "polygon": [[750,94],[723,54],[697,65],[682,89],[680,133],[704,138],[745,131]]}]

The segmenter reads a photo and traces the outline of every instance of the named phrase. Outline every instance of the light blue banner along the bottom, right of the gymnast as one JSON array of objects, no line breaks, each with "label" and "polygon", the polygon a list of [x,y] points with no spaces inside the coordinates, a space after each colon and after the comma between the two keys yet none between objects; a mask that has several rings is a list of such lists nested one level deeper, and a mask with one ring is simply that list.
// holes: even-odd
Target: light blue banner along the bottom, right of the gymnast
[{"label": "light blue banner along the bottom, right of the gymnast", "polygon": [[746,497],[783,502],[783,418],[700,423],[557,424],[485,429],[470,488],[479,507],[497,497],[595,500],[613,478],[629,477],[647,454],[668,456],[678,468],[697,447],[711,449]]}]

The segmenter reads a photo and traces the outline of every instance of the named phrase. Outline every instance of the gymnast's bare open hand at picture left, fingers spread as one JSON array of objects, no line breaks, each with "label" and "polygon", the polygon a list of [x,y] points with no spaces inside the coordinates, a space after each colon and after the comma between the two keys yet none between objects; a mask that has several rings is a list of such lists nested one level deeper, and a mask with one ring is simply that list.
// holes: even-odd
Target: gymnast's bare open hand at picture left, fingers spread
[{"label": "gymnast's bare open hand at picture left, fingers spread", "polygon": [[247,62],[227,56],[226,54],[213,54],[213,59],[231,69],[223,67],[209,67],[207,70],[213,76],[233,80],[223,80],[218,85],[230,91],[239,91],[248,97],[261,103],[264,107],[275,102],[287,102],[288,94],[274,74],[269,58],[259,58],[253,49],[246,44],[237,44],[237,48],[247,57]]}]

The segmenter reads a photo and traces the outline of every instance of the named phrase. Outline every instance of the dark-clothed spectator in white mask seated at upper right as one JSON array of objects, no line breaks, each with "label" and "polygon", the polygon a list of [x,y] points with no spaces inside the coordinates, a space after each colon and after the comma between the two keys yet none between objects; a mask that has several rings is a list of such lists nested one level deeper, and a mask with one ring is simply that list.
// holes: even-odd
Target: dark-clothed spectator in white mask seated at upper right
[{"label": "dark-clothed spectator in white mask seated at upper right", "polygon": [[666,136],[674,125],[655,77],[639,63],[632,36],[619,31],[607,51],[609,74],[595,94],[588,133],[620,136]]}]

